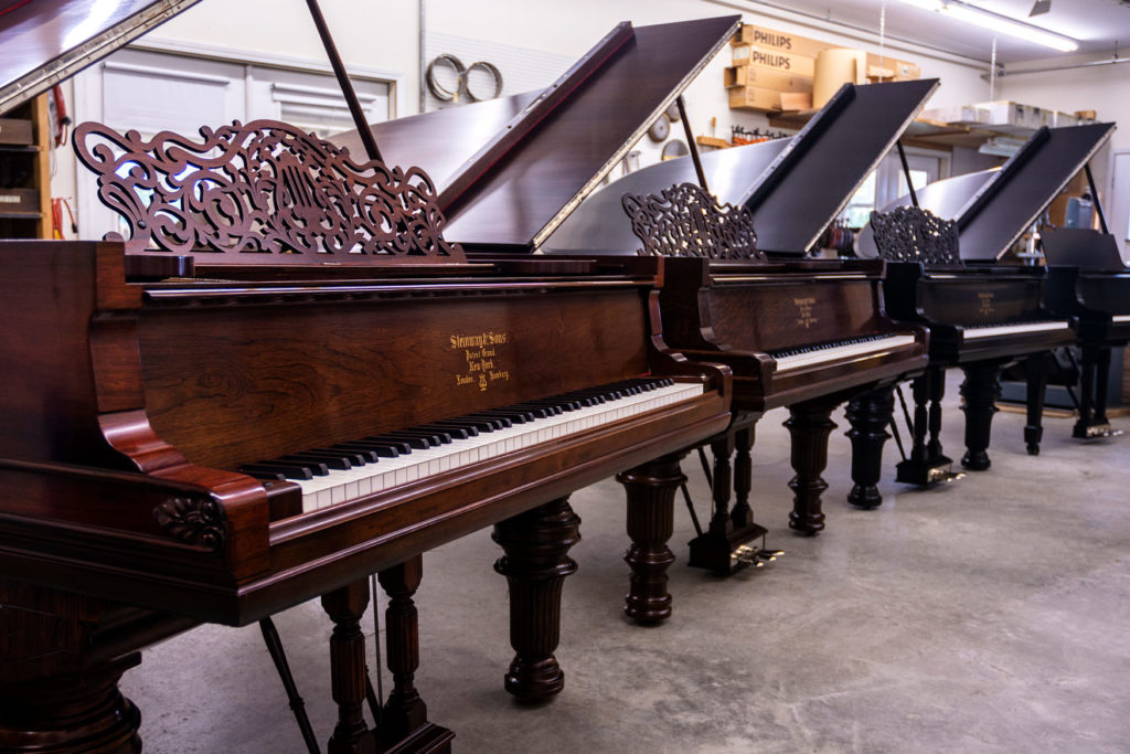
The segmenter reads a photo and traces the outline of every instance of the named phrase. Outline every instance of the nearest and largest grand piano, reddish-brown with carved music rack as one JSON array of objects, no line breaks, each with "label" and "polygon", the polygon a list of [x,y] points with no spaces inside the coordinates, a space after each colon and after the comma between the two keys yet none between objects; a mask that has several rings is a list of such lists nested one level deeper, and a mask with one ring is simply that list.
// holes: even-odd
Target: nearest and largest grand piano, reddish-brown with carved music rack
[{"label": "nearest and largest grand piano, reddish-brown with carved music rack", "polygon": [[[89,44],[53,46],[88,5],[0,15],[6,52],[34,60],[6,57],[3,107],[192,3],[120,2]],[[671,26],[703,58],[733,20]],[[151,140],[86,124],[76,148],[131,233],[0,242],[5,751],[139,751],[118,679],[141,649],[319,596],[329,751],[445,751],[412,684],[420,554],[501,525],[512,599],[554,624],[570,492],[730,421],[727,370],[653,327],[661,262],[470,260],[424,171],[277,122]],[[374,572],[379,731],[358,626]],[[559,691],[555,645],[520,652],[508,687]]]}]

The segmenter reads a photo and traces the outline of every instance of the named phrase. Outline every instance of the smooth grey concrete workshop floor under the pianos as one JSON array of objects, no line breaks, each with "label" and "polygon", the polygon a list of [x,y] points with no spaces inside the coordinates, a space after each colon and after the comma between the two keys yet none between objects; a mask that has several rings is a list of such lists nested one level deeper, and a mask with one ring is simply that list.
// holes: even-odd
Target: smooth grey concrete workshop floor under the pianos
[{"label": "smooth grey concrete workshop floor under the pianos", "polygon": [[[957,458],[956,384],[948,396],[944,442]],[[1069,419],[1048,418],[1043,453],[1029,457],[1023,417],[1001,413],[992,469],[910,488],[890,480],[888,443],[884,505],[857,511],[844,502],[841,413],[827,530],[807,539],[786,527],[784,418],[774,411],[758,426],[754,492],[770,544],[786,555],[725,580],[688,569],[693,529],[680,503],[675,615],[662,626],[620,615],[618,485],[573,496],[584,539],[565,584],[566,687],[548,704],[521,705],[502,690],[506,587],[489,532],[425,556],[417,685],[432,720],[457,733],[457,751],[1130,751],[1130,439],[1079,443]],[[1130,430],[1130,419],[1115,426]],[[706,501],[697,462],[684,466]],[[307,603],[277,625],[324,746],[334,720],[328,621]],[[167,641],[123,690],[141,708],[147,752],[305,751],[254,626]]]}]

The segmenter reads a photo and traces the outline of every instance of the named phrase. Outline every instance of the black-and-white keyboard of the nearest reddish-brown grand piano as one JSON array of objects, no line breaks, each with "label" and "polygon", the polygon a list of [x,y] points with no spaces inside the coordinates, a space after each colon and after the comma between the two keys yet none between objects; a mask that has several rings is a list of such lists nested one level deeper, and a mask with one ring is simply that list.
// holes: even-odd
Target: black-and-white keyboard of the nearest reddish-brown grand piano
[{"label": "black-and-white keyboard of the nearest reddish-brown grand piano", "polygon": [[694,398],[699,383],[638,379],[247,463],[240,470],[302,487],[304,513],[560,440]]}]

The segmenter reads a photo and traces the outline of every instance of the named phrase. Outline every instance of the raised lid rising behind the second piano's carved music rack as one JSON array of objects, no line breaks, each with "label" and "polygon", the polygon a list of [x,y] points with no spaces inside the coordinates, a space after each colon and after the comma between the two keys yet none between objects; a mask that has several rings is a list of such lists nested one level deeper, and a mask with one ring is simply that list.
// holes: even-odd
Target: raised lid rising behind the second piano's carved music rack
[{"label": "raised lid rising behind the second piano's carved music rack", "polygon": [[[938,86],[937,79],[844,85],[791,139],[764,141],[702,156],[712,193],[754,215],[757,248],[807,251],[875,170]],[[589,198],[546,248],[633,253],[638,239],[620,206],[624,193],[658,193],[696,183],[689,157],[650,165]]]}]

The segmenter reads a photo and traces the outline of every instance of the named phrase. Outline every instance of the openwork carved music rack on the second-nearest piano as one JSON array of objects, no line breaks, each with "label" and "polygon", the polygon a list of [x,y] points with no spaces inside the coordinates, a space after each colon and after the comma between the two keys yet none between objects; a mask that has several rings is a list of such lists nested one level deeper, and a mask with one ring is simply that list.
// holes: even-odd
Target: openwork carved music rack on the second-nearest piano
[{"label": "openwork carved music rack on the second-nearest piano", "polygon": [[764,260],[757,250],[754,216],[745,208],[720,205],[694,183],[663,189],[659,196],[624,194],[632,232],[646,257],[705,257]]}]

